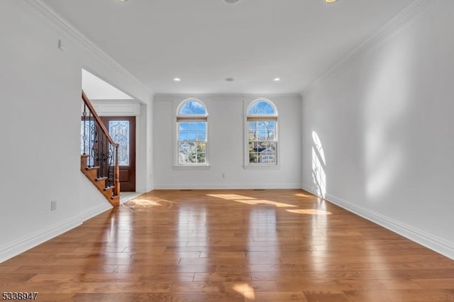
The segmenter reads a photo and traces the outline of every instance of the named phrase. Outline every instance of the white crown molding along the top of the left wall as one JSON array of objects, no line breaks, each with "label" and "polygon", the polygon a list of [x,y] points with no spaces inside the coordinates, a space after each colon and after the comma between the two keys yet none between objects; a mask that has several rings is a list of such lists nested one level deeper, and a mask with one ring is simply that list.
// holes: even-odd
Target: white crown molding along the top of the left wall
[{"label": "white crown molding along the top of the left wall", "polygon": [[75,28],[70,22],[66,21],[65,18],[60,16],[57,11],[52,9],[48,4],[45,4],[42,0],[25,0],[25,2],[34,9],[43,19],[52,26],[52,28],[61,31],[68,38],[71,38],[74,42],[81,45],[84,49],[89,50],[99,60],[105,62],[108,66],[116,70],[121,76],[123,76],[128,82],[135,84],[143,91],[152,95],[153,91],[150,91],[148,86],[140,82],[136,77],[133,76],[128,70],[122,67],[112,57],[106,54],[104,50],[101,50],[92,40],[87,38],[86,35],[81,33]]}]

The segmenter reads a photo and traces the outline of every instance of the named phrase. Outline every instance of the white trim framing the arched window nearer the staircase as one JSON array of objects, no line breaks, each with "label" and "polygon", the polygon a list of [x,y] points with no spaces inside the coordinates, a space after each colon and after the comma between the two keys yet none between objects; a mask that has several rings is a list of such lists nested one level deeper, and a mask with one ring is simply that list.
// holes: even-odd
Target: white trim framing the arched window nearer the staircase
[{"label": "white trim framing the arched window nearer the staircase", "polygon": [[[178,139],[179,139],[179,128],[177,127],[178,124],[178,119],[181,117],[179,116],[179,108],[183,106],[187,101],[198,101],[200,104],[202,104],[205,107],[206,114],[187,114],[184,115],[184,118],[187,118],[188,121],[196,121],[197,118],[200,118],[201,120],[206,119],[206,150],[205,150],[205,163],[204,164],[179,164],[178,162]],[[210,143],[210,131],[209,131],[209,114],[208,114],[208,108],[206,107],[205,103],[201,101],[200,99],[196,98],[187,98],[183,100],[175,100],[174,99],[174,120],[173,120],[173,128],[174,128],[174,137],[173,137],[173,154],[174,154],[174,163],[173,163],[173,169],[175,170],[205,170],[209,169],[210,164],[209,164],[209,143]]]}]

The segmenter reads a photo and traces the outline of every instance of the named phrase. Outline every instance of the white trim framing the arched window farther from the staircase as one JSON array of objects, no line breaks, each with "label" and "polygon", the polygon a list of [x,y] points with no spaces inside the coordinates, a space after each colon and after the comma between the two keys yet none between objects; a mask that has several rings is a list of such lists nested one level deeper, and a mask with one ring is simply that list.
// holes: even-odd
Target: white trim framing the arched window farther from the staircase
[{"label": "white trim framing the arched window farther from the staircase", "polygon": [[[258,101],[267,101],[275,110],[275,114],[253,114],[249,115],[248,111],[255,102]],[[270,101],[270,99],[266,98],[258,98],[253,99],[252,101],[243,101],[243,169],[251,169],[251,170],[278,170],[280,169],[280,135],[279,135],[279,113],[277,111],[276,105]],[[276,163],[275,164],[264,164],[264,163],[250,163],[249,162],[249,136],[248,136],[248,116],[250,117],[257,117],[257,118],[276,118],[276,138],[277,138],[277,155],[276,155]]]}]

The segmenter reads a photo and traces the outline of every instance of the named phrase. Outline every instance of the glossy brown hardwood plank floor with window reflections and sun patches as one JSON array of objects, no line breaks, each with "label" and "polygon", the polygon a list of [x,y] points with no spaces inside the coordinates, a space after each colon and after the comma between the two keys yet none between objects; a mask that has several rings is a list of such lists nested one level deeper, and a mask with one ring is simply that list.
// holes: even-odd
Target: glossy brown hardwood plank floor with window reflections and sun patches
[{"label": "glossy brown hardwood plank floor with window reflections and sun patches", "polygon": [[301,190],[153,191],[0,264],[37,301],[454,301],[454,261]]}]

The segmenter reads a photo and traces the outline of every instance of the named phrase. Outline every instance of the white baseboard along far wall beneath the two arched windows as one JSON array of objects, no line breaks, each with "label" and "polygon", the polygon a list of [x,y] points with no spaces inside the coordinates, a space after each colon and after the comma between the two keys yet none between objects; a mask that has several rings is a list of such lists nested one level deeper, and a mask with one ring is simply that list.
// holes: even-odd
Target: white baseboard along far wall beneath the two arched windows
[{"label": "white baseboard along far wall beneath the two arched windows", "polygon": [[155,184],[154,189],[301,189],[301,184]]}]

